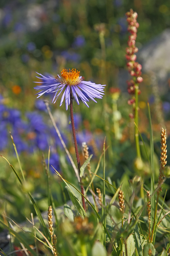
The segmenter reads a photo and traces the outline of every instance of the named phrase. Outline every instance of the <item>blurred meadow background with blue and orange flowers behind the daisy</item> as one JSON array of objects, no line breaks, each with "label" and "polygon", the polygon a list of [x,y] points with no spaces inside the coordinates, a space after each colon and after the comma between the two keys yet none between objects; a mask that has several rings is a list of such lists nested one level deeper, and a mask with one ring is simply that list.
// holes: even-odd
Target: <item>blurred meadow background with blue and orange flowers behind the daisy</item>
[{"label": "blurred meadow background with blue and orange flowers behind the daisy", "polygon": [[[129,118],[131,106],[127,103],[129,95],[126,92],[126,84],[119,82],[120,70],[126,69],[125,48],[128,33],[125,13],[130,8],[138,13],[140,26],[136,46],[139,49],[170,26],[169,0],[163,2],[158,0],[1,0],[0,150],[1,154],[19,170],[10,131],[27,177],[27,182],[20,190],[9,165],[4,159],[0,159],[1,213],[6,212],[6,215],[20,222],[25,220],[25,216],[29,217],[30,212],[34,212],[30,201],[26,200],[22,191],[31,191],[39,209],[47,210],[46,172],[42,153],[47,162],[49,146],[51,146],[50,165],[60,170],[63,177],[78,187],[73,168],[43,103],[43,99],[49,99],[51,102],[52,97],[45,95],[36,99],[32,82],[38,81],[35,78],[36,71],[56,76],[63,68],[76,68],[80,70],[86,81],[106,84],[104,98],[99,99],[98,103],[90,102],[89,109],[83,103],[80,103],[80,106],[74,104],[80,154],[81,143],[86,141],[90,153],[93,153],[91,164],[95,168],[106,135],[109,146],[106,154],[106,175],[111,180],[115,180],[117,185],[123,182],[122,190],[127,192],[128,179],[135,173],[139,174],[137,163],[134,162],[136,152],[133,121]],[[140,85],[139,130],[149,150],[147,111],[149,99],[155,138],[157,169],[155,179],[157,179],[160,123],[155,104],[159,105],[159,114],[162,116],[162,122],[166,124],[169,135],[170,101],[166,99],[165,106],[164,95],[161,99],[158,95],[155,101],[152,88],[147,83],[148,75],[144,74],[144,78],[144,82]],[[121,89],[117,96],[113,88]],[[59,107],[59,100],[54,105],[50,104],[50,108],[75,160],[69,112],[65,110],[64,104]],[[119,125],[118,137],[114,127],[115,120]],[[146,158],[144,150],[143,158]],[[82,154],[81,161],[84,161]],[[100,169],[99,175],[100,171],[102,173],[102,167]],[[147,165],[142,175],[147,184],[147,179],[150,177]],[[84,180],[85,186],[88,181],[87,175]],[[68,200],[64,184],[53,172],[50,182],[55,205],[62,205]],[[100,180],[96,179],[96,186],[102,186]],[[168,184],[164,186],[164,190],[166,188],[169,188]]]}]

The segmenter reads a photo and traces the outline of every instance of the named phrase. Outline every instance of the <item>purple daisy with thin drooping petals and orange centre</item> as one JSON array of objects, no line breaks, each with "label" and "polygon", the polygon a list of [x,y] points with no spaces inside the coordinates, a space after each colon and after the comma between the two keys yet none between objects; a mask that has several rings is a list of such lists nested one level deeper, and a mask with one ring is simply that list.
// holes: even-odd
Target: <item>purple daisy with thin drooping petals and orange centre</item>
[{"label": "purple daisy with thin drooping petals and orange centre", "polygon": [[[61,75],[57,75],[57,77],[52,77],[50,75],[44,76],[37,73],[41,77],[37,77],[42,79],[43,82],[35,82],[41,83],[42,85],[37,85],[34,87],[35,90],[40,90],[38,92],[38,97],[48,92],[55,92],[52,103],[55,103],[59,95],[63,92],[60,106],[62,105],[65,97],[66,102],[66,110],[70,105],[70,94],[73,94],[77,104],[79,105],[78,97],[81,98],[82,102],[89,108],[87,101],[89,99],[85,96],[85,94],[92,99],[94,102],[97,102],[94,98],[102,99],[104,95],[104,86],[101,84],[95,84],[90,81],[84,81],[84,77],[79,76],[80,71],[76,71],[76,69],[69,69],[69,72],[66,69],[63,69]],[[38,98],[37,97],[37,98]]]}]

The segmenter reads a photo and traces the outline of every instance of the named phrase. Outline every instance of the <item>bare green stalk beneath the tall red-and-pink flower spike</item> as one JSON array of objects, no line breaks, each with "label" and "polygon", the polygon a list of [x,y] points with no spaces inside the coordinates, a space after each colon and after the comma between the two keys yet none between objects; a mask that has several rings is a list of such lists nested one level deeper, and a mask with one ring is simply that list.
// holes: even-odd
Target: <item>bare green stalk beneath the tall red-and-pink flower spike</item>
[{"label": "bare green stalk beneath the tall red-and-pink flower spike", "polygon": [[[136,123],[136,126],[138,127],[138,85],[137,84],[135,87],[135,123]],[[136,142],[137,158],[141,159],[140,147],[139,147],[139,132],[136,126],[135,126],[135,142]]]}]

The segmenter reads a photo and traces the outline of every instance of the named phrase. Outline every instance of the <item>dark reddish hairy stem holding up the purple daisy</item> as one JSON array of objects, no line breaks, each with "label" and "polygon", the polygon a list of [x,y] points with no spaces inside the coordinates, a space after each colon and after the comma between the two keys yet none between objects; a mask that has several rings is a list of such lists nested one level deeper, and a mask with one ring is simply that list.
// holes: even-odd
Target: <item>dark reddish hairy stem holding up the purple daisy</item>
[{"label": "dark reddish hairy stem holding up the purple daisy", "polygon": [[[80,175],[80,158],[79,158],[79,154],[78,154],[78,147],[77,147],[77,139],[76,139],[76,134],[75,134],[75,126],[74,126],[74,117],[73,117],[73,94],[72,91],[70,89],[70,117],[71,117],[71,127],[72,127],[72,131],[73,131],[73,140],[74,140],[74,147],[75,147],[75,154],[76,154],[76,159],[77,159],[77,166],[78,166],[78,171],[79,171],[79,175]],[[82,185],[81,182],[81,177],[80,177],[80,188],[81,188],[81,198],[82,198],[82,205],[83,208],[86,212],[86,206],[85,206],[85,199],[84,199],[84,187]]]}]

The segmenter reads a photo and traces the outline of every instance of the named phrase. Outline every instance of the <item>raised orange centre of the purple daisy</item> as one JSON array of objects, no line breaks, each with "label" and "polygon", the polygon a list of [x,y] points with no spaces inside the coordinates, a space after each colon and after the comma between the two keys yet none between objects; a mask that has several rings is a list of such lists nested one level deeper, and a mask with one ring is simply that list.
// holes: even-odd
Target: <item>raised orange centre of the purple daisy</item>
[{"label": "raised orange centre of the purple daisy", "polygon": [[69,84],[69,85],[75,85],[79,83],[80,81],[79,74],[80,74],[80,71],[74,68],[72,70],[70,70],[69,68],[69,72],[66,69],[63,69],[61,71],[61,76],[64,82],[66,82],[66,84]]}]

